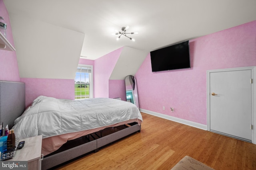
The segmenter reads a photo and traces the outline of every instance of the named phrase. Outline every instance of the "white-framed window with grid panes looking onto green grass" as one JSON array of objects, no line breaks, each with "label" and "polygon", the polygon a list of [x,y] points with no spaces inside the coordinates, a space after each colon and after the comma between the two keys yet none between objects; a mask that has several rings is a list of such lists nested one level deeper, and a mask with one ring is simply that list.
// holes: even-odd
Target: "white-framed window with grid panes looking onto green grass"
[{"label": "white-framed window with grid panes looking onto green grass", "polygon": [[75,99],[93,98],[92,66],[78,65],[75,77]]}]

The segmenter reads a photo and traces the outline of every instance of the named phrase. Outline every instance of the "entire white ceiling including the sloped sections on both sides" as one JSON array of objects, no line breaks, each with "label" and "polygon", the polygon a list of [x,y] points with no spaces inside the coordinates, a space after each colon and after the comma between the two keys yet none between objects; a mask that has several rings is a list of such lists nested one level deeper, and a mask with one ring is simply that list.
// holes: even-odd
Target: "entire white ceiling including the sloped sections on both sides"
[{"label": "entire white ceiling including the sloped sections on both sides", "polygon": [[[154,49],[256,20],[256,0],[3,1],[22,78],[74,79],[80,56],[125,46],[110,77],[120,79]],[[135,42],[111,35],[126,25]]]}]

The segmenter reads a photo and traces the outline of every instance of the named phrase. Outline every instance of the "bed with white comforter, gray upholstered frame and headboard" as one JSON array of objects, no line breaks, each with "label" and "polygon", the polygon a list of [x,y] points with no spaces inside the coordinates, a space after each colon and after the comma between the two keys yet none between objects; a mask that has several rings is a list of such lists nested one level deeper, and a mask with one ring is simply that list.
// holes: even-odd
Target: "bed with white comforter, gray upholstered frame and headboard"
[{"label": "bed with white comforter, gray upholstered frame and headboard", "polygon": [[[13,92],[10,84],[15,82],[0,82],[0,92]],[[24,86],[23,83],[16,84]],[[18,92],[20,90],[15,93]],[[23,100],[22,95],[18,98]],[[11,106],[16,106],[20,100],[15,99],[17,104],[13,98],[0,93],[0,102],[8,101]],[[42,170],[88,152],[97,152],[106,145],[140,132],[142,123],[140,111],[134,104],[116,99],[64,100],[39,96],[25,111],[24,103],[19,105],[22,107],[18,115],[12,115],[13,112],[7,108],[0,111],[0,116],[5,115],[10,119],[8,123],[15,124],[13,129],[20,139],[43,135]]]}]

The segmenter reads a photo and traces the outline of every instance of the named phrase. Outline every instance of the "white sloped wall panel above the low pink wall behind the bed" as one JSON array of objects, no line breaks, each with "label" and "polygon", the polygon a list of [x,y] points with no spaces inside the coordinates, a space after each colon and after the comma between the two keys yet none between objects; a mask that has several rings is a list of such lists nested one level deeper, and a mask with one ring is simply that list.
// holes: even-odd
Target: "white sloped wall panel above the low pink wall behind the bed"
[{"label": "white sloped wall panel above the low pink wall behind the bed", "polygon": [[84,33],[10,14],[21,78],[74,79]]}]

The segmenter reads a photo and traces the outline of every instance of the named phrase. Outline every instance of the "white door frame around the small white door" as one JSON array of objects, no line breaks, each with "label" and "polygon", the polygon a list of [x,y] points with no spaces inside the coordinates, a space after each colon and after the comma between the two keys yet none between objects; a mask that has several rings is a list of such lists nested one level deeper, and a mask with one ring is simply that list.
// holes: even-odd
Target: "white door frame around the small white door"
[{"label": "white door frame around the small white door", "polygon": [[[207,131],[210,131],[210,73],[251,70],[252,72],[252,143],[256,144],[256,66],[207,70]],[[248,80],[250,81],[250,80]]]}]

